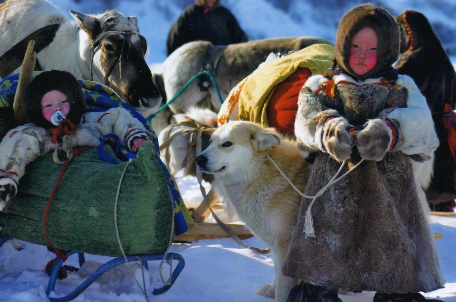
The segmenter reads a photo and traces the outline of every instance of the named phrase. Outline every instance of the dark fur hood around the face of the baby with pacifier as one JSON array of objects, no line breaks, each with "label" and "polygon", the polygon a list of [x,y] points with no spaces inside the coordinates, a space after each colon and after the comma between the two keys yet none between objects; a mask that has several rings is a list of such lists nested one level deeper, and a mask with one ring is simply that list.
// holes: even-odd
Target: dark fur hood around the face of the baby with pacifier
[{"label": "dark fur hood around the face of the baby with pacifier", "polygon": [[85,95],[78,80],[66,71],[51,70],[38,74],[27,86],[24,105],[26,120],[38,127],[54,128],[42,114],[41,99],[49,91],[58,90],[67,96],[70,112],[67,119],[78,125],[85,111]]}]

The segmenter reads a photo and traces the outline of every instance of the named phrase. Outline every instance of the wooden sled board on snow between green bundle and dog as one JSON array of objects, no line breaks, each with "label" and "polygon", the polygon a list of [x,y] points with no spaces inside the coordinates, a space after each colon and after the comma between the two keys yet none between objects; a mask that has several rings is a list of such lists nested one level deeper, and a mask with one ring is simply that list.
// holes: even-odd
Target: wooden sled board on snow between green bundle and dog
[{"label": "wooden sled board on snow between green bundle and dog", "polygon": [[[254,235],[244,224],[227,224],[240,239],[251,238]],[[185,234],[175,237],[175,240],[195,242],[201,239],[229,238],[229,235],[218,225],[208,222],[195,222]]]}]

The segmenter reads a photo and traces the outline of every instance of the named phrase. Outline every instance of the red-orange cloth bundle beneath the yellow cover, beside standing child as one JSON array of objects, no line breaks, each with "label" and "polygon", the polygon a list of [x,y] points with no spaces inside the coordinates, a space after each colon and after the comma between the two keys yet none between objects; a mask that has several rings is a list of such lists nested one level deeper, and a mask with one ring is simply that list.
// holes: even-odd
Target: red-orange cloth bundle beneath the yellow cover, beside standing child
[{"label": "red-orange cloth bundle beneath the yellow cover, beside standing child", "polygon": [[270,127],[280,132],[295,134],[299,91],[311,75],[309,68],[299,67],[295,73],[277,85],[267,108]]}]

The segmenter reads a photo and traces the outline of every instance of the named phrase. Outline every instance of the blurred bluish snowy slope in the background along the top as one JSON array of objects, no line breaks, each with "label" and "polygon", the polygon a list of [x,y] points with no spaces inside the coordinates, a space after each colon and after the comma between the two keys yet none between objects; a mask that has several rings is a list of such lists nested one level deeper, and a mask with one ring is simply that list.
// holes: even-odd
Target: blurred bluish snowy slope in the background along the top
[{"label": "blurred bluish snowy slope in the background along the top", "polygon": [[[277,7],[288,3],[288,9]],[[0,3],[2,0],[0,0]],[[146,54],[149,65],[166,59],[166,38],[171,24],[193,0],[51,0],[71,18],[68,10],[88,14],[102,13],[114,8],[124,15],[137,16],[140,33],[148,42]],[[318,36],[335,42],[339,19],[352,7],[369,1],[362,0],[223,0],[238,20],[250,40],[287,36]],[[397,16],[405,10],[417,10],[426,15],[444,45],[456,46],[456,0],[373,0]],[[248,3],[248,5],[246,5]]]}]

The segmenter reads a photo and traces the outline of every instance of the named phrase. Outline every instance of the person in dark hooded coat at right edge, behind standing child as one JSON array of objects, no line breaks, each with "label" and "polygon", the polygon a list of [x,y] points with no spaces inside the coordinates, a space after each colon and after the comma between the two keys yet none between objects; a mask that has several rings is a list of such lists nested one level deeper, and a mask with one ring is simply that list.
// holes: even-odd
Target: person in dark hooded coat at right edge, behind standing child
[{"label": "person in dark hooded coat at right edge, behind standing child", "polygon": [[[451,207],[451,202],[456,197],[456,164],[448,144],[449,131],[446,129],[449,126],[446,125],[446,120],[451,120],[452,110],[455,109],[456,73],[439,38],[423,14],[407,10],[396,17],[396,22],[401,29],[401,43],[395,68],[399,74],[412,77],[425,95],[440,141],[440,146],[435,151],[434,177],[426,195],[431,203],[441,203],[437,209],[445,210],[442,206]],[[450,112],[445,114],[446,111]]]}]

